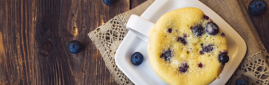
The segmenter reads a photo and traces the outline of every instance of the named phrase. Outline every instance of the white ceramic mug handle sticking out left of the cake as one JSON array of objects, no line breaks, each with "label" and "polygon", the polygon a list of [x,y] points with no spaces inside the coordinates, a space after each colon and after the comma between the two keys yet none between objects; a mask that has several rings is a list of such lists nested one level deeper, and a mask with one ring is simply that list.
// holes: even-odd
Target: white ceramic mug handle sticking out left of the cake
[{"label": "white ceramic mug handle sticking out left of the cake", "polygon": [[133,32],[136,36],[148,42],[148,32],[154,23],[132,14],[126,24],[126,28]]}]

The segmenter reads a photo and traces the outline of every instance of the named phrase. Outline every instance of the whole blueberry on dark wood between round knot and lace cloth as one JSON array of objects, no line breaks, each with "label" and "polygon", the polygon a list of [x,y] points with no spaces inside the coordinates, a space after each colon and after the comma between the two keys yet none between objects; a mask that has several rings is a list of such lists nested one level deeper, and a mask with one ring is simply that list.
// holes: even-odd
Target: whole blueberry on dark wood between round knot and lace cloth
[{"label": "whole blueberry on dark wood between round knot and lace cloth", "polygon": [[68,44],[68,50],[72,54],[78,54],[82,50],[82,45],[77,40],[72,40]]}]

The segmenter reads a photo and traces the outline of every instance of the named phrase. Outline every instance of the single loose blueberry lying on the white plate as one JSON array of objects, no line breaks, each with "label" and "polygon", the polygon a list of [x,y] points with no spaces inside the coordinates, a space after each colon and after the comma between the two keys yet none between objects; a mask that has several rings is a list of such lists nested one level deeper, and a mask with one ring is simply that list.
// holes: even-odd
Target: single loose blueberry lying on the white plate
[{"label": "single loose blueberry lying on the white plate", "polygon": [[144,60],[144,56],[139,52],[134,52],[131,56],[131,62],[134,65],[140,65]]}]

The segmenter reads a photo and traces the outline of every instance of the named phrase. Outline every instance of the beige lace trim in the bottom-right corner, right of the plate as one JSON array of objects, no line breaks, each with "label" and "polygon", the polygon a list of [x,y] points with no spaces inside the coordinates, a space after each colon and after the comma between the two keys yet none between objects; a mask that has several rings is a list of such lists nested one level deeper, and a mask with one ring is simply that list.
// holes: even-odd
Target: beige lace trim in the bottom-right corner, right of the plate
[{"label": "beige lace trim in the bottom-right corner, right of the plate", "polygon": [[259,43],[261,52],[250,58],[245,58],[233,73],[232,77],[226,83],[235,84],[235,81],[242,77],[249,81],[249,84],[268,85],[269,84],[269,54],[263,43]]}]

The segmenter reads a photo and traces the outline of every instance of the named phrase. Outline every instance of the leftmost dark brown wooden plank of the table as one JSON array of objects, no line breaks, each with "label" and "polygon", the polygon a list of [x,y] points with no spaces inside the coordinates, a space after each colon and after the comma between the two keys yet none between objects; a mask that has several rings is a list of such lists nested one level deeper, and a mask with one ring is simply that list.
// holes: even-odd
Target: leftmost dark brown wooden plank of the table
[{"label": "leftmost dark brown wooden plank of the table", "polygon": [[34,1],[0,1],[0,84],[34,83]]}]

